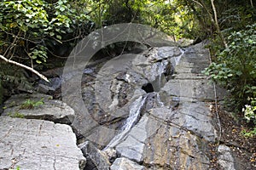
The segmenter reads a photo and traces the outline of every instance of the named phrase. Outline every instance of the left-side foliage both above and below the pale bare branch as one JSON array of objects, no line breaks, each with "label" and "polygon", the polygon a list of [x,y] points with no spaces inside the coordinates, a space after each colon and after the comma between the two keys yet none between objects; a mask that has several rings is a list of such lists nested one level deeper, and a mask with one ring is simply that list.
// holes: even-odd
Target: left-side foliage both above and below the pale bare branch
[{"label": "left-side foliage both above and below the pale bare branch", "polygon": [[[63,51],[62,44],[69,45],[88,33],[89,18],[82,10],[87,6],[77,5],[72,0],[2,0],[0,54],[34,69],[44,69],[49,65],[49,54],[55,54],[52,50]],[[13,94],[17,86],[27,86],[25,75],[22,69],[0,61],[0,104],[3,96]]]}]

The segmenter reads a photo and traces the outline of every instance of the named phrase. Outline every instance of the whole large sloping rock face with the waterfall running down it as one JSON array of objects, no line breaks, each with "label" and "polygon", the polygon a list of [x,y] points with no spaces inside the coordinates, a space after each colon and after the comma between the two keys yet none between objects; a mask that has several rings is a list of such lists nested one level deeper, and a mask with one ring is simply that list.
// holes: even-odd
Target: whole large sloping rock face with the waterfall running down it
[{"label": "whole large sloping rock face with the waterfall running down it", "polygon": [[122,157],[113,169],[134,163],[134,169],[209,169],[208,144],[218,139],[218,121],[208,102],[224,96],[201,73],[209,63],[203,42],[148,48],[84,74],[81,91],[67,83],[63,99],[73,105],[81,141]]}]

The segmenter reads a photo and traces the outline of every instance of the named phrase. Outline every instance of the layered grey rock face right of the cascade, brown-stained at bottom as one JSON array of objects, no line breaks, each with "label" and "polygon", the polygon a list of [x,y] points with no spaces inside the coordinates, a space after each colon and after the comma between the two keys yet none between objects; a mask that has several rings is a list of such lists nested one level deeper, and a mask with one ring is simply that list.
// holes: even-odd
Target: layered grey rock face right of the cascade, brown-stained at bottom
[{"label": "layered grey rock face right of the cascade, brown-stained at bottom", "polygon": [[218,138],[218,126],[206,103],[215,99],[214,88],[201,74],[208,55],[202,44],[187,49],[173,79],[160,88],[164,106],[146,111],[116,145],[121,156],[150,169],[209,168],[207,144]]}]

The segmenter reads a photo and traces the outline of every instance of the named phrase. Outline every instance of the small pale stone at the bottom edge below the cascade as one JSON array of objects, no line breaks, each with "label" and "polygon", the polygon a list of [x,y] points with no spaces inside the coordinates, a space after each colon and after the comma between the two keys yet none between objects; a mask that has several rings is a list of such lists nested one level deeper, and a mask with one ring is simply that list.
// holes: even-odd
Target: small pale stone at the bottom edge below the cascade
[{"label": "small pale stone at the bottom edge below the cascade", "polygon": [[146,168],[138,165],[136,162],[131,161],[125,157],[118,158],[113,162],[110,167],[111,170],[145,170]]}]

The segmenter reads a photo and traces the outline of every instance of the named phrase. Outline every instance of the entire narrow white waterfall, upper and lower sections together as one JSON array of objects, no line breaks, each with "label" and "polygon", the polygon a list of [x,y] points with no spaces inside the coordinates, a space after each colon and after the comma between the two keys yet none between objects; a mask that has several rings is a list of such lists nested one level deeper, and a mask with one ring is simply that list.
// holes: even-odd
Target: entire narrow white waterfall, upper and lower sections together
[{"label": "entire narrow white waterfall, upper and lower sections together", "polygon": [[[125,140],[125,137],[127,133],[131,131],[131,128],[134,127],[134,125],[138,122],[138,119],[140,117],[140,113],[144,106],[148,108],[152,108],[152,106],[156,107],[163,107],[164,103],[160,99],[160,95],[157,93],[160,91],[160,88],[164,86],[164,84],[167,82],[165,72],[166,72],[166,66],[168,63],[170,63],[170,69],[174,68],[178,62],[180,61],[181,57],[184,54],[184,50],[180,48],[181,54],[178,56],[172,57],[171,62],[168,60],[164,60],[162,62],[155,63],[151,67],[151,73],[148,75],[151,76],[151,79],[154,77],[154,81],[150,82],[148,84],[145,84],[142,88],[147,93],[143,96],[140,96],[138,99],[133,101],[130,105],[130,112],[128,118],[125,120],[125,123],[123,127],[121,127],[121,132],[117,134],[105,147],[104,150],[107,150],[108,148],[113,148],[116,145],[118,145],[122,140]],[[168,68],[167,68],[168,69]],[[171,71],[172,72],[172,71]],[[149,78],[150,79],[150,78]],[[152,94],[153,93],[153,94]],[[153,103],[148,103],[148,99],[150,100],[152,96],[155,96],[153,99]],[[151,96],[151,97],[150,97]]]}]

